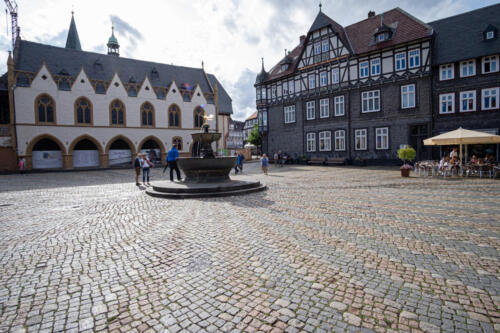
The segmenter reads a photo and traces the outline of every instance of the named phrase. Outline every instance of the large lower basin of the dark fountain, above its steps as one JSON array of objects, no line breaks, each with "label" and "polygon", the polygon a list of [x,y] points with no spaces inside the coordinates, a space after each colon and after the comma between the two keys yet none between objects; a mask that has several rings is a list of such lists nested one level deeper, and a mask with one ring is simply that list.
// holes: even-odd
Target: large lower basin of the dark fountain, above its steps
[{"label": "large lower basin of the dark fountain, above its steps", "polygon": [[229,173],[236,164],[236,157],[181,157],[177,165],[184,172],[185,183],[214,183],[231,181]]}]

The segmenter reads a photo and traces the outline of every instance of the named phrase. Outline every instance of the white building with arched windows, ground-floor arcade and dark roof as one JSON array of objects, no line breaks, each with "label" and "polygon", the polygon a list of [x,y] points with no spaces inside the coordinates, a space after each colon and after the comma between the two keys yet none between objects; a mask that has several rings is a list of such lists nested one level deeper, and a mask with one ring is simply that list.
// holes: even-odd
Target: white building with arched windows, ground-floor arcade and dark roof
[{"label": "white building with arched windows, ground-floor arcade and dark roof", "polygon": [[65,48],[17,39],[7,75],[14,157],[28,169],[131,165],[141,151],[162,163],[173,144],[190,155],[205,121],[225,148],[232,104],[214,75],[122,58],[114,32],[107,46],[82,51],[73,18]]}]

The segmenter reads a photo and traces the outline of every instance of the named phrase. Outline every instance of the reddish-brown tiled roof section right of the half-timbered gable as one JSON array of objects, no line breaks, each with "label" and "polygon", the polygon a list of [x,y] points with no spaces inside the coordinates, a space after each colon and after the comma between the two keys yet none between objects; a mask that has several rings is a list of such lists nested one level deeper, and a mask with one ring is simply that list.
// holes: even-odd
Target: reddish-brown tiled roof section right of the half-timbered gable
[{"label": "reddish-brown tiled roof section right of the half-timbered gable", "polygon": [[[395,29],[395,32],[392,39],[382,43],[374,43],[373,34],[377,31],[377,28],[380,27],[381,16],[383,16],[383,23]],[[363,21],[347,26],[345,29],[351,41],[351,45],[357,54],[407,43],[432,35],[432,28],[430,26],[408,14],[401,8],[394,8],[383,14],[369,17]]]}]

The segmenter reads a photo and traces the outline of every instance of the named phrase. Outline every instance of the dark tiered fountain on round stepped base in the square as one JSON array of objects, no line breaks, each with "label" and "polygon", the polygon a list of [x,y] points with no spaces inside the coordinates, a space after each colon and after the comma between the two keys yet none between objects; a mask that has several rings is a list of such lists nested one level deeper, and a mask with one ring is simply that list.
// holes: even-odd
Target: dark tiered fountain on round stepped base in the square
[{"label": "dark tiered fountain on round stepped base in the square", "polygon": [[160,182],[146,193],[154,197],[186,199],[221,197],[263,191],[266,186],[259,181],[231,180],[229,173],[236,164],[236,156],[216,157],[212,143],[219,140],[221,133],[209,131],[205,122],[199,133],[193,137],[193,157],[180,157],[177,165],[184,173],[181,182]]}]

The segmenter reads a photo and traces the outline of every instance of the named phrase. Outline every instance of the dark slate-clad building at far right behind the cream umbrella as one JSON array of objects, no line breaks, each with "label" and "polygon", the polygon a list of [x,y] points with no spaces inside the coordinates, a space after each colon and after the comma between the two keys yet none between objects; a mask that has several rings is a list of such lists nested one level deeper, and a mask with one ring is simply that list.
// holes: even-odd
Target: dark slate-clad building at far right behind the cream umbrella
[{"label": "dark slate-clad building at far right behind the cream umbrella", "polygon": [[[429,23],[434,29],[433,134],[458,127],[500,134],[500,4]],[[496,69],[489,72],[485,62],[494,59]],[[451,73],[451,75],[450,75]],[[496,105],[486,105],[484,94],[496,91]],[[464,109],[461,95],[475,94],[472,110]],[[443,109],[442,99],[452,96],[454,103]],[[491,103],[493,104],[493,103]],[[434,158],[451,147],[434,149]],[[499,159],[498,145],[468,147],[468,153],[484,155],[486,150]]]}]

